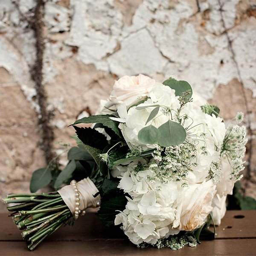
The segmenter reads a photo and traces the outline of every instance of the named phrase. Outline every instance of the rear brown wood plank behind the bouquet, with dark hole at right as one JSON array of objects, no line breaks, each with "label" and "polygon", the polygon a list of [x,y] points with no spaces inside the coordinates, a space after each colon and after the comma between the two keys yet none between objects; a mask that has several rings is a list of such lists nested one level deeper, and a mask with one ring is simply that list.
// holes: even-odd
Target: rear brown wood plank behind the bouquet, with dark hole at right
[{"label": "rear brown wood plank behind the bouquet, with dark hole at right", "polygon": [[[244,218],[234,218],[234,216],[244,216]],[[256,211],[227,211],[220,227],[217,227],[216,239],[227,238],[256,238]],[[0,214],[0,241],[12,240],[22,241],[20,230],[17,229],[10,217]],[[113,230],[103,226],[99,218],[88,213],[80,217],[74,226],[61,227],[48,239],[51,241],[70,241],[87,239],[119,239],[125,238],[122,230],[118,227]]]}]

